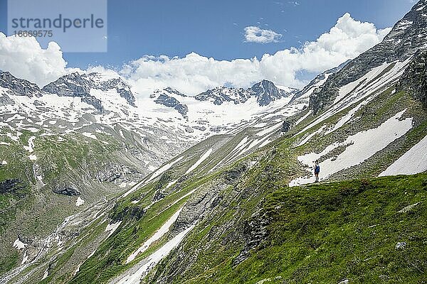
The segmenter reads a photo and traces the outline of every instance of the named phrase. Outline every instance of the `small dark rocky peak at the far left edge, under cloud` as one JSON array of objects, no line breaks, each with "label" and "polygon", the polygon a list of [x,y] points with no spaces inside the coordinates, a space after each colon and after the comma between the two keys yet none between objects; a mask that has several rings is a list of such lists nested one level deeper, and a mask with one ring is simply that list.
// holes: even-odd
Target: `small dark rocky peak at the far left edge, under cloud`
[{"label": "small dark rocky peak at the far left edge, under cloud", "polygon": [[[41,89],[36,84],[16,78],[9,72],[0,71],[0,87],[9,89],[9,94],[16,96],[41,97],[42,95]],[[5,102],[6,99],[0,98],[0,101]]]}]

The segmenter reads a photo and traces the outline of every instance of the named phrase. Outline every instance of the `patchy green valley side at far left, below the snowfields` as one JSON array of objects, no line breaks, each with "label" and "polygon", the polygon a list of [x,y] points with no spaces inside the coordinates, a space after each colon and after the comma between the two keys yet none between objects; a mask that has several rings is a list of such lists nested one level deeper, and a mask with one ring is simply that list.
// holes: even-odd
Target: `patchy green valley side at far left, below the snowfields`
[{"label": "patchy green valley side at far left, below the snowfields", "polygon": [[[55,230],[65,217],[86,207],[85,204],[75,206],[77,197],[54,193],[55,181],[84,184],[84,191],[83,186],[78,189],[83,192],[86,204],[123,190],[108,182],[85,182],[88,175],[102,169],[103,163],[119,160],[120,144],[111,136],[97,133],[98,138],[106,142],[101,143],[79,133],[64,135],[58,140],[59,136],[23,131],[19,140],[14,141],[6,133],[8,129],[0,129],[0,163],[7,162],[0,165],[0,185],[9,180],[17,183],[13,192],[0,192],[0,275],[21,263],[22,251],[12,247],[18,236],[37,241]],[[31,136],[36,136],[33,153],[24,148]],[[30,154],[36,155],[37,160],[28,158]],[[36,180],[36,175],[43,178],[43,183]],[[35,254],[36,250],[30,259]]]}]

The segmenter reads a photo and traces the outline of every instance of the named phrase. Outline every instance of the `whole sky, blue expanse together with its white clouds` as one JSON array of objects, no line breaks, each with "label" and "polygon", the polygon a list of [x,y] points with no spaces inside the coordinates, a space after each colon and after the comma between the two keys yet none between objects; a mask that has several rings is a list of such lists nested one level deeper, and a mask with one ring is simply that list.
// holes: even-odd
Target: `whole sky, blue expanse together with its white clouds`
[{"label": "whole sky, blue expanse together with its white clouds", "polygon": [[[51,8],[58,3],[38,1],[48,2]],[[74,9],[78,7],[75,1],[66,11],[75,10],[80,16],[80,9]],[[102,10],[102,5],[95,1],[104,0],[90,1],[90,9],[81,11]],[[34,2],[13,3],[28,7]],[[260,80],[302,88],[320,72],[356,58],[380,43],[415,1],[108,0],[107,3],[107,53],[62,52],[56,43],[40,46],[35,38],[5,37],[0,33],[0,70],[41,87],[76,70],[105,72],[125,77],[139,94],[150,94],[164,87],[199,94],[218,86],[249,87]],[[6,0],[0,0],[0,31],[6,31],[6,8]],[[51,10],[56,16],[56,10]],[[17,11],[21,13],[19,8]],[[31,14],[33,10],[22,10],[27,11]],[[66,40],[70,38],[73,36],[67,33]],[[105,31],[99,37],[90,37],[97,38],[105,43]],[[89,40],[80,42],[93,46]],[[58,43],[63,50],[68,48],[63,42]]]}]

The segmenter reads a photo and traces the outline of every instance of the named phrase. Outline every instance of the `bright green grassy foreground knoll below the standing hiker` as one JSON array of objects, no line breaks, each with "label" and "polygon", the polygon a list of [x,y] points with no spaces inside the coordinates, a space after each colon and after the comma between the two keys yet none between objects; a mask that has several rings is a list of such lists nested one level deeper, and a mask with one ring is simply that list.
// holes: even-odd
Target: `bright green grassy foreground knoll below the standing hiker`
[{"label": "bright green grassy foreground knoll below the standing hiker", "polygon": [[423,283],[426,194],[426,173],[280,188],[263,201],[268,236],[246,261],[175,282]]}]

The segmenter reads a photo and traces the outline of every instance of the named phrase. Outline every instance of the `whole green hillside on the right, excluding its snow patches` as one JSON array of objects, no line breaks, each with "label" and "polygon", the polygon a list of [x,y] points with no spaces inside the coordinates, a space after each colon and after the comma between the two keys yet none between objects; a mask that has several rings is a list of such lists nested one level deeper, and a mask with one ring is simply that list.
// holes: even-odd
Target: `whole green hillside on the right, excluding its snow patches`
[{"label": "whole green hillside on the right, excluding its snow patches", "polygon": [[[182,206],[192,208],[197,202],[204,204],[204,211],[192,217],[198,223],[144,283],[257,283],[268,279],[275,283],[337,283],[344,278],[353,283],[379,279],[394,283],[408,275],[413,275],[415,282],[421,281],[426,259],[417,257],[417,253],[427,248],[421,238],[426,222],[426,174],[374,179],[426,135],[426,110],[405,92],[394,93],[393,89],[361,107],[354,119],[337,131],[296,146],[308,133],[322,126],[333,127],[351,108],[295,135],[312,122],[314,118],[309,116],[278,140],[213,172],[210,169],[248,132],[209,138],[181,154],[186,158],[147,185],[125,198],[111,200],[115,206],[105,217],[83,231],[75,245],[65,246],[60,257],[45,258],[46,266],[38,263],[41,268],[26,283],[40,280],[47,266],[49,275],[43,283],[108,283],[171,239],[173,234],[165,234],[134,261],[125,263],[174,212]],[[335,141],[374,129],[404,109],[404,116],[413,118],[408,133],[379,155],[332,177],[371,180],[288,187],[290,180],[304,175],[298,155],[318,153]],[[214,148],[209,159],[185,175],[209,148]],[[333,155],[342,151],[338,149]],[[172,180],[176,183],[166,188]],[[180,199],[193,190],[191,196]],[[152,204],[159,192],[164,198]],[[396,213],[419,201],[423,203],[413,210],[421,210],[421,215]],[[186,214],[189,217],[189,212]],[[396,218],[406,215],[413,219],[405,223]],[[90,258],[76,256],[76,251],[89,248],[91,238],[102,239],[107,223],[119,220],[122,223],[112,236],[97,248],[90,246],[89,253],[96,249]],[[418,241],[413,243],[411,238]],[[406,249],[394,250],[399,241],[406,242]],[[399,253],[407,253],[404,259],[411,267],[399,262]],[[83,261],[74,275],[74,268]]]}]

